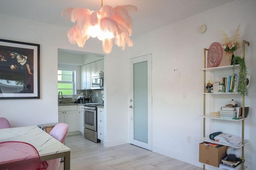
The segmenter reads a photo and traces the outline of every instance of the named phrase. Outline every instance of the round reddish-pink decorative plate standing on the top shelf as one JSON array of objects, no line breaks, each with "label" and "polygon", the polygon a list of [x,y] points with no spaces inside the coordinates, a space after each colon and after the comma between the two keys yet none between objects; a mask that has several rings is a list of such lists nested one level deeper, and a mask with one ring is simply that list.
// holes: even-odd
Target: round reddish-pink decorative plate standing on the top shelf
[{"label": "round reddish-pink decorative plate standing on the top shelf", "polygon": [[207,68],[219,66],[222,61],[222,56],[222,45],[218,42],[212,43],[207,53]]}]

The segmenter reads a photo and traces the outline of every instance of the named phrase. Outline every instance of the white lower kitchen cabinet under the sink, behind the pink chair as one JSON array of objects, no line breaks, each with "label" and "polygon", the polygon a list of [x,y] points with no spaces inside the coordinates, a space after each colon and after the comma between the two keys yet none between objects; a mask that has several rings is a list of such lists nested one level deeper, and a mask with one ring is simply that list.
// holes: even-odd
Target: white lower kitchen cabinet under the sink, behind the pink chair
[{"label": "white lower kitchen cabinet under the sink, behind the pink chair", "polygon": [[59,106],[58,119],[59,123],[68,125],[68,135],[79,134],[77,106]]}]

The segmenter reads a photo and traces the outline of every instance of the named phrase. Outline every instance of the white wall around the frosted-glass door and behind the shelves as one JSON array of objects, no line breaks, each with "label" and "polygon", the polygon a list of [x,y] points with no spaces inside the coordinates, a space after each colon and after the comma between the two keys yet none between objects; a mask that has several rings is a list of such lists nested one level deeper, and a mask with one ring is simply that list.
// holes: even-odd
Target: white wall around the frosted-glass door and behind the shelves
[{"label": "white wall around the frosted-glass door and behind the shelves", "polygon": [[[124,141],[129,132],[128,119],[128,63],[129,58],[138,57],[146,53],[152,53],[153,62],[153,151],[170,156],[197,166],[198,144],[203,135],[203,48],[209,48],[211,43],[220,42],[221,36],[218,30],[222,29],[230,37],[234,35],[236,28],[241,23],[242,39],[250,41],[246,47],[246,64],[250,67],[251,75],[249,97],[246,97],[246,106],[250,106],[250,119],[246,119],[245,137],[250,140],[246,144],[246,165],[256,167],[256,135],[254,114],[255,107],[255,63],[256,53],[256,1],[235,0],[228,4],[178,21],[161,29],[145,33],[139,37],[132,37],[134,46],[128,47],[123,53],[120,49],[105,58],[107,64],[107,87],[104,92],[108,94],[107,100],[107,137],[106,146],[115,145]],[[170,12],[171,14],[171,12]],[[201,24],[207,25],[204,34],[198,33]],[[126,53],[127,52],[127,53]],[[120,56],[123,54],[123,56]],[[125,60],[124,57],[127,57]],[[164,85],[164,78],[171,74],[166,71],[164,64],[178,57],[180,83],[174,86]],[[172,63],[168,63],[172,64]],[[110,66],[114,66],[111,67]],[[227,74],[227,73],[225,73]],[[125,75],[125,76],[124,76]],[[118,78],[118,82],[115,81]],[[215,82],[218,78],[211,80]],[[122,83],[120,83],[122,82]],[[186,100],[182,99],[182,93],[186,92]],[[111,94],[111,96],[110,96]],[[120,98],[122,96],[122,98]],[[224,97],[221,104],[228,104],[234,96]],[[236,96],[235,99],[239,96]],[[118,104],[116,104],[118,101]],[[218,109],[218,108],[213,108]],[[224,122],[225,123],[225,122]],[[239,123],[238,123],[239,124]],[[231,132],[228,125],[214,127],[210,124],[210,131],[221,129]],[[240,134],[240,127],[236,127],[234,135]],[[187,135],[191,136],[191,143],[186,143]],[[125,142],[124,142],[125,143]],[[104,145],[105,146],[105,145]]]}]

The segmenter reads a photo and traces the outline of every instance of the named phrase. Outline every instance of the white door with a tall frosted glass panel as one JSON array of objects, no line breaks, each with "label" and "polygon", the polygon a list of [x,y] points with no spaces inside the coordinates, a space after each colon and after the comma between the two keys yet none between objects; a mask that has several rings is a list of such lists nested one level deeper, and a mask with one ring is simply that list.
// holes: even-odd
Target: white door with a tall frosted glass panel
[{"label": "white door with a tall frosted glass panel", "polygon": [[130,59],[130,143],[152,150],[152,55]]}]

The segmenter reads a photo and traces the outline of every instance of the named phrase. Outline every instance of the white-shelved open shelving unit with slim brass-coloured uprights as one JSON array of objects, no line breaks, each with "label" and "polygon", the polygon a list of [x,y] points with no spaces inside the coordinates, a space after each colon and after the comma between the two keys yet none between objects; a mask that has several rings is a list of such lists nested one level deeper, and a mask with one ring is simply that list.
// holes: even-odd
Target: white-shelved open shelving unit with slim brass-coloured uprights
[{"label": "white-shelved open shelving unit with slim brass-coloured uprights", "polygon": [[[250,45],[250,43],[248,41],[243,40],[243,59],[245,60],[245,44],[247,44],[248,46]],[[208,49],[204,49],[204,68],[202,68],[201,70],[204,71],[204,89],[203,89],[203,95],[204,95],[204,114],[201,116],[204,119],[204,127],[203,127],[203,137],[201,138],[202,141],[204,142],[209,142],[209,143],[216,143],[216,144],[220,144],[220,145],[225,145],[228,147],[234,147],[234,148],[242,148],[242,170],[245,170],[247,167],[244,166],[244,96],[242,96],[242,107],[243,107],[243,113],[242,113],[242,118],[241,119],[224,119],[224,118],[219,118],[219,117],[212,117],[209,114],[206,114],[206,95],[233,95],[233,94],[238,94],[236,93],[227,93],[227,92],[217,92],[217,93],[204,93],[205,90],[205,86],[206,86],[206,72],[215,72],[215,71],[224,71],[224,70],[232,70],[233,69],[233,65],[230,66],[220,66],[220,67],[214,67],[214,68],[206,68],[206,51],[208,51]],[[239,69],[240,66],[239,64],[234,66],[235,69]],[[206,119],[218,119],[220,121],[234,121],[234,122],[241,122],[240,124],[242,124],[242,145],[240,147],[235,147],[233,145],[228,145],[226,143],[220,143],[217,141],[213,141],[211,140],[208,136],[206,137]],[[248,141],[246,141],[248,142]],[[215,167],[216,168],[216,167]],[[203,169],[205,170],[205,164],[203,165]],[[219,169],[219,168],[216,168]]]}]

